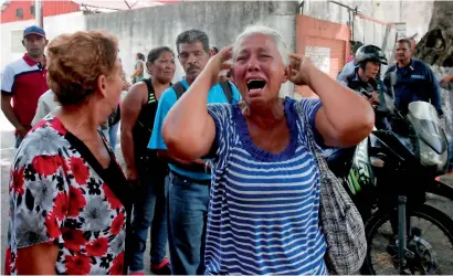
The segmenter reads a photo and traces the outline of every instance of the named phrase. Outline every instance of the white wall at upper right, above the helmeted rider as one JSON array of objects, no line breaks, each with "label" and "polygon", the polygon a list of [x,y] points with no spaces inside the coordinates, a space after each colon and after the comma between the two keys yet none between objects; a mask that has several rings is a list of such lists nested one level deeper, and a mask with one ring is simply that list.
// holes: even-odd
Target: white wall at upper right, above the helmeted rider
[{"label": "white wall at upper right, above the helmeted rider", "polygon": [[[389,62],[393,61],[393,47],[397,35],[397,29],[390,28],[383,23],[405,22],[405,34],[412,36],[418,33],[415,41],[426,33],[431,20],[433,9],[433,0],[426,1],[356,1],[341,0],[337,1],[352,9],[373,18],[379,22],[373,22],[368,19],[355,17],[354,20],[354,38],[355,41],[362,43],[371,43],[382,47],[386,51]],[[305,0],[304,14],[322,20],[348,24],[348,9],[329,1]],[[352,28],[352,26],[351,26]],[[382,66],[382,73],[387,66]]]}]

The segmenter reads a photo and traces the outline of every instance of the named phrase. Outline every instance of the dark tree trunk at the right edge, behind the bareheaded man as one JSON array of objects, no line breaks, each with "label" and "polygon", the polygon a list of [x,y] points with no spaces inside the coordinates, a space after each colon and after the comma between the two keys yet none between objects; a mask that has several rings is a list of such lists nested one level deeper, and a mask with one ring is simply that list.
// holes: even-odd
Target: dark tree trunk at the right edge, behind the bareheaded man
[{"label": "dark tree trunk at the right edge, behind the bareheaded man", "polygon": [[[417,2],[413,2],[414,4]],[[431,65],[439,79],[453,75],[453,1],[434,1],[426,34],[417,44],[413,56]],[[453,97],[441,88],[442,109],[445,114],[444,129],[453,137]]]}]

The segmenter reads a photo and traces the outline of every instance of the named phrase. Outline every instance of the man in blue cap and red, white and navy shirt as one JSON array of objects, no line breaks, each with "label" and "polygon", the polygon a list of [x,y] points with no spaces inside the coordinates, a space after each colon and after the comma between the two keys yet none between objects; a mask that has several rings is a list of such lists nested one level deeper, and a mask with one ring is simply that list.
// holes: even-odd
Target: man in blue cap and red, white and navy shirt
[{"label": "man in blue cap and red, white and navy shirt", "polygon": [[49,89],[44,30],[35,25],[25,28],[22,44],[27,54],[8,64],[1,79],[1,110],[15,128],[15,148],[31,128],[38,99]]}]

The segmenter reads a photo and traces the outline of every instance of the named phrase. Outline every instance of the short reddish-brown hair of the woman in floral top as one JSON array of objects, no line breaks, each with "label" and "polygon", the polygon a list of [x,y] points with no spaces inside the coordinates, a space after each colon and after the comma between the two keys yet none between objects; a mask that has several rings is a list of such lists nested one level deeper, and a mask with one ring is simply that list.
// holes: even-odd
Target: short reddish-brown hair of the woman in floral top
[{"label": "short reddish-brown hair of the woman in floral top", "polygon": [[48,82],[62,106],[80,105],[97,89],[97,78],[116,73],[118,41],[105,32],[61,34],[48,46]]}]

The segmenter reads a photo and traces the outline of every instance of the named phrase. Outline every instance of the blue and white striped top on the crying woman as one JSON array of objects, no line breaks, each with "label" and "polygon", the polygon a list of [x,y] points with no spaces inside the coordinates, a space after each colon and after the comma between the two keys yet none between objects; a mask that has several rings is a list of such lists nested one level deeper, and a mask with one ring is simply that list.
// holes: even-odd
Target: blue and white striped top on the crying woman
[{"label": "blue and white striped top on the crying woman", "polygon": [[289,145],[274,155],[251,140],[236,105],[209,105],[215,123],[204,264],[207,274],[327,274],[318,226],[319,171],[303,116],[318,99],[285,99]]}]

